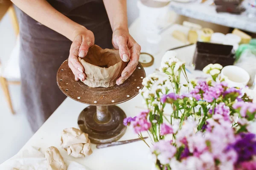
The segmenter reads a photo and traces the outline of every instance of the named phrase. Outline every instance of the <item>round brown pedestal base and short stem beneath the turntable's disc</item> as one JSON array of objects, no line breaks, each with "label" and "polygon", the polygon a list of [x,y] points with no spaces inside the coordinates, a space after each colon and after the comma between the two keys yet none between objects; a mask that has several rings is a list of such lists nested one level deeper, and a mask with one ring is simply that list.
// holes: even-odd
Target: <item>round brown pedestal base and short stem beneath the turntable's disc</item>
[{"label": "round brown pedestal base and short stem beneath the turntable's disc", "polygon": [[88,133],[91,143],[109,143],[125,134],[125,118],[125,112],[116,105],[88,106],[80,113],[78,125],[84,133]]}]

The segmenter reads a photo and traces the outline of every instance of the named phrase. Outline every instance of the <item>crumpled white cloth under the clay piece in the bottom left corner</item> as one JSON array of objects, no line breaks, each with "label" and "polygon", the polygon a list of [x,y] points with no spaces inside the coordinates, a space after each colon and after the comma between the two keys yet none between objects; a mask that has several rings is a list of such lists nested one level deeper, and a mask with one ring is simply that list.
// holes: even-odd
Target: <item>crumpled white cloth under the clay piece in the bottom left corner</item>
[{"label": "crumpled white cloth under the clay piece in the bottom left corner", "polygon": [[[64,159],[67,170],[90,170],[75,161]],[[0,170],[47,170],[47,159],[40,148],[29,147],[0,165]]]}]

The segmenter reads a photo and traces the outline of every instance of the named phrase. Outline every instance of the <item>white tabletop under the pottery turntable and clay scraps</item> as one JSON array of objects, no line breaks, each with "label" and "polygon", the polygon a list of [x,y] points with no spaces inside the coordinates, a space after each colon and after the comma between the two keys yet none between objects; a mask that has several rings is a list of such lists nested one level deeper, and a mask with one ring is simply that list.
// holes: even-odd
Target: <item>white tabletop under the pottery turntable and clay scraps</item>
[{"label": "white tabletop under the pottery turntable and clay scraps", "polygon": [[[140,20],[137,19],[130,27],[130,33],[137,42],[142,45],[142,52],[146,52],[146,44],[143,42],[143,34],[141,34],[139,26]],[[149,68],[145,68],[146,74],[151,74],[156,68],[160,67],[160,60],[165,51],[169,48],[183,45],[182,42],[175,40],[171,36],[171,32],[175,29],[182,29],[182,26],[174,25],[171,28],[164,31],[161,36],[163,37],[160,46],[160,51],[155,55],[155,63]],[[180,55],[189,54],[192,56],[194,47],[186,47],[183,50],[177,51]],[[191,51],[191,52],[189,52]],[[139,94],[133,99],[119,104],[127,116],[136,116],[143,110],[142,106],[143,98]],[[64,100],[64,102],[58,107],[58,109],[47,119],[44,125],[29,139],[29,141],[23,146],[21,150],[24,150],[30,146],[41,147],[42,152],[45,152],[47,147],[55,146],[60,150],[61,155],[73,161],[77,161],[90,168],[91,170],[150,170],[152,161],[150,159],[150,150],[142,141],[134,142],[131,144],[119,145],[115,147],[108,147],[104,149],[96,149],[96,146],[92,144],[93,154],[87,158],[73,158],[67,156],[67,152],[60,147],[61,131],[64,128],[76,127],[79,113],[87,105],[76,102],[70,98]],[[136,139],[138,136],[131,128],[128,128],[125,135],[120,140]],[[150,142],[148,140],[148,142]],[[1,165],[0,165],[1,169]]]}]

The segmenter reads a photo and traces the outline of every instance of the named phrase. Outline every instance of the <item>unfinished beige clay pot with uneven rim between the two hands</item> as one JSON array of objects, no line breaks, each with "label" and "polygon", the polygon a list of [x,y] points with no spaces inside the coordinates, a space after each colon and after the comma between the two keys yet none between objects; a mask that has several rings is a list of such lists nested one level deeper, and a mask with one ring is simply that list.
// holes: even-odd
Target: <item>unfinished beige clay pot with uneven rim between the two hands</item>
[{"label": "unfinished beige clay pot with uneven rim between the two hands", "polygon": [[119,50],[102,49],[98,45],[89,48],[84,58],[78,58],[84,66],[86,79],[84,84],[92,88],[112,87],[121,76],[127,62],[123,62]]}]

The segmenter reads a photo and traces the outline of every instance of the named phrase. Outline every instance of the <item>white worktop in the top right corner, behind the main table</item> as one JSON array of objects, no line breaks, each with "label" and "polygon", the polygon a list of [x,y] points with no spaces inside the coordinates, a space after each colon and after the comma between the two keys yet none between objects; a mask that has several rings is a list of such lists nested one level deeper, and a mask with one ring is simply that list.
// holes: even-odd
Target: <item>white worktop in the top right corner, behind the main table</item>
[{"label": "white worktop in the top right corner, behind the main table", "polygon": [[[243,6],[248,6],[247,0],[244,1]],[[207,1],[205,3],[199,3],[198,1],[191,3],[172,2],[170,7],[177,14],[186,17],[256,33],[256,18],[247,17],[248,11],[244,11],[240,15],[217,13],[215,6],[210,6]]]}]

